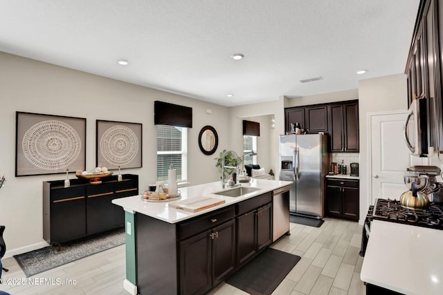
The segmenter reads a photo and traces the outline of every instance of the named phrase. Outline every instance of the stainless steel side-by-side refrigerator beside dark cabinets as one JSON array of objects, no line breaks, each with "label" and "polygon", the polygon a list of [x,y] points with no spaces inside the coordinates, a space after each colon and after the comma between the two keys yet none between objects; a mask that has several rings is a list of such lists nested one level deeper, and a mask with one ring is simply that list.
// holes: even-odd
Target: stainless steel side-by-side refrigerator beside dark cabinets
[{"label": "stainless steel side-by-side refrigerator beside dark cabinets", "polygon": [[280,135],[280,180],[292,181],[289,211],[325,216],[325,175],[329,170],[327,136]]}]

